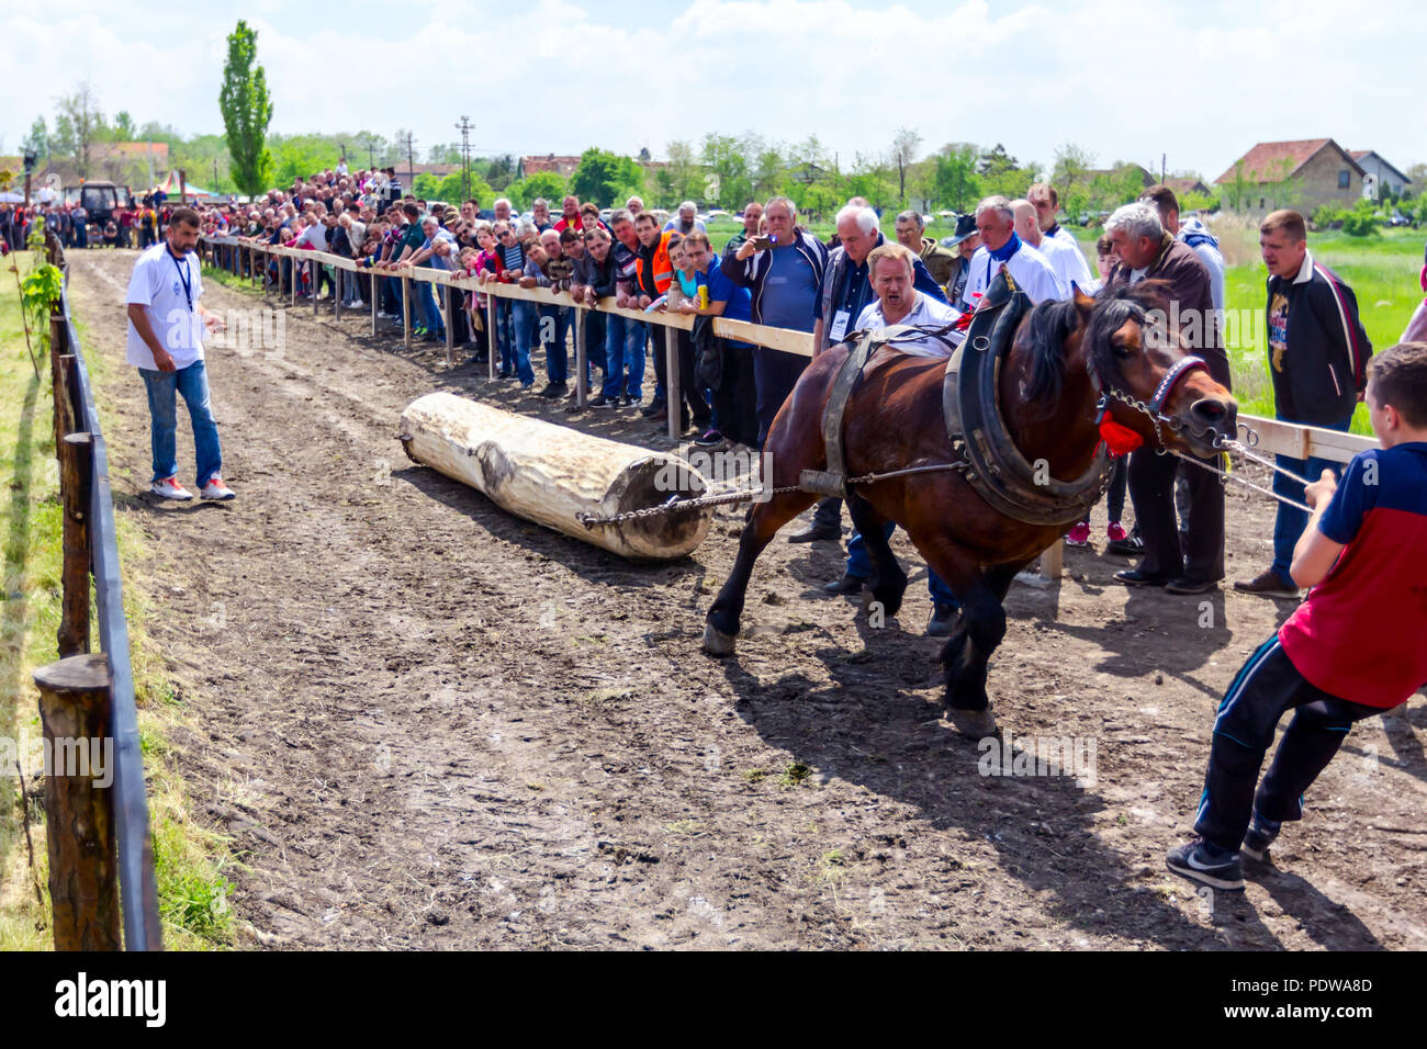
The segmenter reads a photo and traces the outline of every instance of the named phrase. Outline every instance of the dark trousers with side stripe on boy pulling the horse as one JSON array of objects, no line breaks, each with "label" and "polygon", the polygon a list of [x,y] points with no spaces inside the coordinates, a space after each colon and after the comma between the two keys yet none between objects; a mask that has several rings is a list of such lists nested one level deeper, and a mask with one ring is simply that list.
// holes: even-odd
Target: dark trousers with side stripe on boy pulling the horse
[{"label": "dark trousers with side stripe on boy pulling the horse", "polygon": [[[1290,709],[1293,721],[1256,794],[1264,754]],[[1249,657],[1219,705],[1194,831],[1237,852],[1253,812],[1276,824],[1301,819],[1304,791],[1333,761],[1353,722],[1384,709],[1316,688],[1299,674],[1277,635],[1269,638]]]}]

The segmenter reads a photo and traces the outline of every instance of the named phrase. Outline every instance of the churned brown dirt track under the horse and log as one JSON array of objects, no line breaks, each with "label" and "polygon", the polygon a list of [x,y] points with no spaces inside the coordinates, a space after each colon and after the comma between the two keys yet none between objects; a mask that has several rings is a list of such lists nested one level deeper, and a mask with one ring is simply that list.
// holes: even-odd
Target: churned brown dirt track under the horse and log
[{"label": "churned brown dirt track under the horse and log", "polygon": [[[1003,729],[1095,744],[1095,782],[977,772],[939,722],[925,569],[870,629],[821,594],[841,549],[776,539],[739,652],[699,652],[735,551],[635,567],[411,465],[401,410],[450,390],[668,447],[488,382],[365,315],[287,313],[283,360],[210,353],[234,504],[147,494],[143,387],[123,364],[134,253],[73,253],[87,351],[111,364],[126,575],[154,607],[201,735],[174,739],[200,816],[245,851],[245,946],[1427,946],[1427,709],[1354,729],[1276,845],[1213,911],[1163,868],[1190,828],[1214,706],[1284,605],[1126,591],[1069,551],[1016,585],[990,688]],[[210,308],[260,300],[214,281]],[[539,367],[537,367],[539,373]],[[180,425],[180,480],[193,442]],[[1230,492],[1230,577],[1271,511]],[[1103,510],[1095,515],[1097,541]],[[789,775],[791,766],[805,766]]]}]

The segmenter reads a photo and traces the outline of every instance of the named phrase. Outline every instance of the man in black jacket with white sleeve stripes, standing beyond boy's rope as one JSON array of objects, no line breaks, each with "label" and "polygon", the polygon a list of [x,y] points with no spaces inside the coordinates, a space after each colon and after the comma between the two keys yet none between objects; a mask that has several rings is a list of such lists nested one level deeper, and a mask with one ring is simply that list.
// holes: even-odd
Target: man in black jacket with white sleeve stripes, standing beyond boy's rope
[{"label": "man in black jacket with white sleeve stripes, standing beyond boy's rope", "polygon": [[[1274,414],[1287,422],[1347,430],[1367,385],[1367,358],[1373,344],[1357,315],[1353,288],[1309,253],[1303,216],[1274,211],[1259,227],[1259,251],[1269,267],[1269,374],[1273,378]],[[1327,460],[1279,455],[1279,465],[1317,481]],[[1274,472],[1273,491],[1303,502],[1303,485]],[[1289,575],[1293,547],[1309,515],[1279,504],[1273,525],[1273,564],[1234,589],[1263,597],[1297,599]]]}]

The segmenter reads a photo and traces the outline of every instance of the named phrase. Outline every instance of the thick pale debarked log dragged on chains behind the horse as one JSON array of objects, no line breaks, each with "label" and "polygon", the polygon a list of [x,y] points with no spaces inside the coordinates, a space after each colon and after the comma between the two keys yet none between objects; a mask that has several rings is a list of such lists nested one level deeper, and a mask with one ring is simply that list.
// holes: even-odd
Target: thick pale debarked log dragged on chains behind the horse
[{"label": "thick pale debarked log dragged on chains behind the horse", "polygon": [[415,462],[471,485],[528,521],[636,561],[669,561],[698,547],[711,508],[585,528],[581,514],[612,517],[701,495],[708,482],[684,460],[514,415],[454,394],[427,394],[401,415]]}]

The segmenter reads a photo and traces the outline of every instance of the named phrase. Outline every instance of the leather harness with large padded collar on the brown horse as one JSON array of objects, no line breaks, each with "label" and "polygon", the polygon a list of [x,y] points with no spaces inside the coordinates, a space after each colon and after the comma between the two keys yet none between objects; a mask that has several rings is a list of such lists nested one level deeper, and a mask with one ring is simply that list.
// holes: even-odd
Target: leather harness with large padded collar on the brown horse
[{"label": "leather harness with large padded collar on the brown horse", "polygon": [[[950,440],[955,462],[935,465],[913,465],[886,474],[869,474],[848,478],[846,458],[842,447],[842,422],[848,400],[856,388],[872,354],[883,345],[896,345],[910,340],[936,338],[950,347],[952,325],[930,328],[893,325],[880,331],[855,333],[849,343],[848,357],[833,378],[823,410],[822,435],[826,447],[828,468],[803,470],[798,487],[819,495],[848,497],[852,485],[883,478],[936,470],[955,470],[977,495],[993,510],[1016,521],[1037,525],[1065,527],[1085,518],[1104,494],[1110,478],[1112,457],[1102,442],[1089,468],[1072,481],[1050,477],[1045,462],[1033,464],[1022,454],[1010,437],[1000,412],[997,382],[1002,360],[1010,350],[1016,328],[1030,310],[1030,300],[1020,291],[1005,268],[992,281],[986,295],[972,317],[966,340],[952,350],[942,377],[942,415],[946,435]],[[1173,428],[1177,424],[1163,415],[1174,384],[1192,368],[1207,367],[1199,357],[1184,357],[1174,363],[1162,380],[1150,404],[1143,404],[1122,391],[1114,382],[1100,375],[1087,354],[1087,371],[1096,394],[1096,417],[1099,425],[1109,412],[1109,401],[1117,400],[1142,411],[1154,422],[1156,435],[1160,422]],[[1160,440],[1163,444],[1163,438]]]}]

